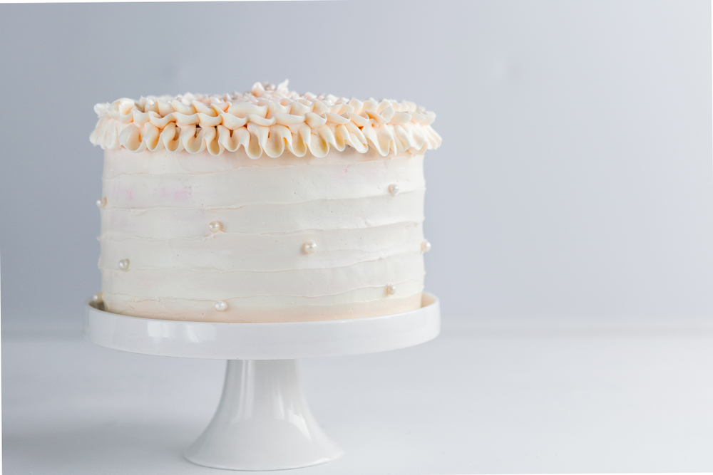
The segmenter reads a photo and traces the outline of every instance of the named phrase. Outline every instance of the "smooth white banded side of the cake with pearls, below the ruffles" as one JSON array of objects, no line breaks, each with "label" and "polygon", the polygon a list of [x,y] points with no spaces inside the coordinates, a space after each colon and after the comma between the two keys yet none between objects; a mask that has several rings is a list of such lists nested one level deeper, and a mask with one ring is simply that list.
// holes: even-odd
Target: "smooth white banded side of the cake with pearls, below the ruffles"
[{"label": "smooth white banded side of the cake with pearls, below the ruffles", "polygon": [[423,155],[106,150],[106,310],[277,322],[419,308]]}]

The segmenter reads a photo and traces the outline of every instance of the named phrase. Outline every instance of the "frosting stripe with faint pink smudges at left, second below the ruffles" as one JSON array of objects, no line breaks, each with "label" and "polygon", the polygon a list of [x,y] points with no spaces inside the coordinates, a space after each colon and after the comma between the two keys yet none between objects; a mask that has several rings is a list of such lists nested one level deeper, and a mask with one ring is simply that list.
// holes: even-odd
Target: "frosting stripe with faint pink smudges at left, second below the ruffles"
[{"label": "frosting stripe with faint pink smudges at left, second below the ruffles", "polygon": [[355,164],[242,167],[205,174],[132,174],[103,180],[107,208],[213,208],[251,203],[299,203],[315,199],[356,199],[424,190],[423,157]]}]

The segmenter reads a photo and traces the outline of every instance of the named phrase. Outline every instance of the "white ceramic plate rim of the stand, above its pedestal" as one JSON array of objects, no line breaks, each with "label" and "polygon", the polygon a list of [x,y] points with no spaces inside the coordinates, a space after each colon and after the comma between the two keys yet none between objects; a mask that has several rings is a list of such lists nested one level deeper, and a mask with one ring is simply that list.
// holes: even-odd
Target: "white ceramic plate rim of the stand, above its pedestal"
[{"label": "white ceramic plate rim of the stand, above its pedestal", "polygon": [[285,323],[214,323],[120,315],[84,303],[86,340],[145,355],[219,360],[292,360],[379,353],[426,343],[441,330],[440,302],[391,315]]}]

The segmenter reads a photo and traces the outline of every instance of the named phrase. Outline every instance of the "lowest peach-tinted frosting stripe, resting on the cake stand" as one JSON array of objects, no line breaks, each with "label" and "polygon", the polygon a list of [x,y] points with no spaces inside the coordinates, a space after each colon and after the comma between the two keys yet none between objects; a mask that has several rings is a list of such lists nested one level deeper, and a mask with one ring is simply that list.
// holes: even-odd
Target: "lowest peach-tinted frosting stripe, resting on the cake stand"
[{"label": "lowest peach-tinted frosting stripe, resting on the cake stand", "polygon": [[[250,299],[252,300],[252,299]],[[307,300],[307,301],[305,301]],[[322,299],[319,299],[322,301]],[[180,298],[135,299],[131,296],[105,293],[106,310],[122,315],[160,318],[166,320],[194,320],[205,322],[269,323],[316,320],[366,318],[415,310],[421,306],[421,293],[406,298],[381,296],[373,301],[344,301],[341,303],[312,303],[314,299],[295,298],[293,303],[251,305],[240,298],[225,300],[227,309],[218,312],[212,301],[190,301]],[[175,328],[175,327],[173,327]]]}]

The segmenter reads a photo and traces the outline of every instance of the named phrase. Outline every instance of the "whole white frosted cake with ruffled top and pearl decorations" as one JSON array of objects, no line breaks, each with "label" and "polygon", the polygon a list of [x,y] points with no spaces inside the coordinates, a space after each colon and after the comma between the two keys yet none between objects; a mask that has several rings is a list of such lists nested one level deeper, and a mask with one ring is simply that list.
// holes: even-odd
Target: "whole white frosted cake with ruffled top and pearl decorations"
[{"label": "whole white frosted cake with ruffled top and pearl decorations", "polygon": [[421,306],[433,113],[287,81],[95,111],[104,310],[255,323]]}]

